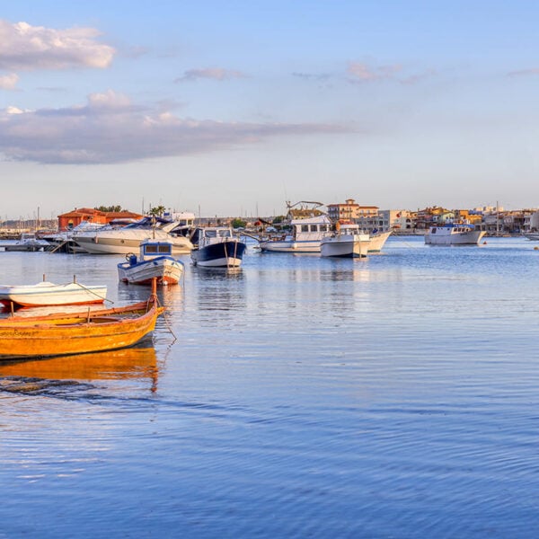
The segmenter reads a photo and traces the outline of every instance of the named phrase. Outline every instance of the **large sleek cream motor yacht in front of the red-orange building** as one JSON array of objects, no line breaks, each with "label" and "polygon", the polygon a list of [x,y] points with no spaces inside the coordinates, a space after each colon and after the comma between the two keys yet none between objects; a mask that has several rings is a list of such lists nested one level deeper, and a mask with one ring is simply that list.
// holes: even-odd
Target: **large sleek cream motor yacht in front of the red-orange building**
[{"label": "large sleek cream motor yacht in front of the red-orange building", "polygon": [[138,252],[140,243],[152,236],[160,242],[172,243],[172,254],[189,253],[193,245],[187,237],[172,234],[176,226],[175,221],[144,217],[131,225],[110,224],[93,232],[75,234],[73,240],[92,254],[129,254]]}]

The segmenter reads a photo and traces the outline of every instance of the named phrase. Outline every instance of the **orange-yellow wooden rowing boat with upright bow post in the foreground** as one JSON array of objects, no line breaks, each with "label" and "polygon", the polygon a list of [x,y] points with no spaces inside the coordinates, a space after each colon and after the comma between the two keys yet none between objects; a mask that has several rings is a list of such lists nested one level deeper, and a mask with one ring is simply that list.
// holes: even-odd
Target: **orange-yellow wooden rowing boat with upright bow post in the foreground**
[{"label": "orange-yellow wooden rowing boat with upright bow post in the foreground", "polygon": [[164,307],[156,285],[147,301],[125,307],[0,320],[0,359],[53,357],[128,348],[155,329]]}]

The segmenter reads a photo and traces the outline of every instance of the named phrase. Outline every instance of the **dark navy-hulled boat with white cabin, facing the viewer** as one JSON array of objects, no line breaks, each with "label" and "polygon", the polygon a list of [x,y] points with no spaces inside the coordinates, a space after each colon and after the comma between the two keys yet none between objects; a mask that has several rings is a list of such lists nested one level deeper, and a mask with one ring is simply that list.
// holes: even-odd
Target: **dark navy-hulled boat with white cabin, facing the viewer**
[{"label": "dark navy-hulled boat with white cabin, facing the viewer", "polygon": [[228,226],[199,227],[191,236],[193,265],[204,268],[239,268],[246,245]]}]

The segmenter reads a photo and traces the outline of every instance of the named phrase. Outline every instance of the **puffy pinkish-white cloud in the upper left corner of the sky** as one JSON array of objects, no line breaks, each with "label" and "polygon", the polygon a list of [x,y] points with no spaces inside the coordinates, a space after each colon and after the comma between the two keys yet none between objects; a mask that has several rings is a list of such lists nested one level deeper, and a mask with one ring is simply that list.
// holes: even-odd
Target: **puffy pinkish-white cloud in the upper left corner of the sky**
[{"label": "puffy pinkish-white cloud in the upper left corner of the sky", "polygon": [[93,28],[57,30],[0,19],[0,69],[108,67],[116,51],[98,36]]}]

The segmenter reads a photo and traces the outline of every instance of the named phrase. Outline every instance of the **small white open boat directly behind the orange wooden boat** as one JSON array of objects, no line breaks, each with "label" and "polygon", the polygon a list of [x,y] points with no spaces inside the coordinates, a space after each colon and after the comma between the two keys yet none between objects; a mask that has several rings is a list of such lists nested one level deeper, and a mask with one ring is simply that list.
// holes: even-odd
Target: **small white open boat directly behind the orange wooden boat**
[{"label": "small white open boat directly behind the orange wooden boat", "polygon": [[0,304],[13,307],[92,305],[103,303],[107,287],[72,283],[57,285],[43,279],[37,285],[0,285]]}]

